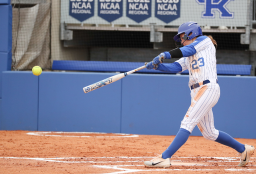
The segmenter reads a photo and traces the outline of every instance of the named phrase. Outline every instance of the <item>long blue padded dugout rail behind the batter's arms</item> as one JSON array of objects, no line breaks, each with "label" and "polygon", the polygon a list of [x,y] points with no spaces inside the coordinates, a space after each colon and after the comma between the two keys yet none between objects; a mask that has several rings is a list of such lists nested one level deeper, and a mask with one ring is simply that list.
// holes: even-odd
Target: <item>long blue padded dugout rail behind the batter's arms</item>
[{"label": "long blue padded dugout rail behind the batter's arms", "polygon": [[[168,48],[107,48],[91,47],[90,60],[94,61],[135,61],[148,62],[160,52]],[[217,49],[216,59],[218,64],[251,64],[250,51]],[[165,59],[164,62],[174,62],[177,60]]]}]

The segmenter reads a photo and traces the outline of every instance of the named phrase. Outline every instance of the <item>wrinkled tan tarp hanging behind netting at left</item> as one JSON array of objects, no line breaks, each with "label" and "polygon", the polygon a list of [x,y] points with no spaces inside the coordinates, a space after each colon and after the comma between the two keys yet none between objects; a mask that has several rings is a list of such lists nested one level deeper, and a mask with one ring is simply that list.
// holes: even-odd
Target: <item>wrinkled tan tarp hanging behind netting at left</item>
[{"label": "wrinkled tan tarp hanging behind netting at left", "polygon": [[12,69],[50,68],[50,1],[12,8]]}]

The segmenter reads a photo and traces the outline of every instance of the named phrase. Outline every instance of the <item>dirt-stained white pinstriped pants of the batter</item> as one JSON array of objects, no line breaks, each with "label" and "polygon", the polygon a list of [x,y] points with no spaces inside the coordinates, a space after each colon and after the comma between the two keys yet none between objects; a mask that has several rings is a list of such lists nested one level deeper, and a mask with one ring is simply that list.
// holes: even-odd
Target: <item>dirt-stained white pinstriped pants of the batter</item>
[{"label": "dirt-stained white pinstriped pants of the batter", "polygon": [[192,132],[195,125],[198,126],[204,138],[216,140],[218,130],[214,128],[212,107],[217,103],[220,89],[217,83],[207,83],[190,92],[191,105],[188,108],[180,128]]}]

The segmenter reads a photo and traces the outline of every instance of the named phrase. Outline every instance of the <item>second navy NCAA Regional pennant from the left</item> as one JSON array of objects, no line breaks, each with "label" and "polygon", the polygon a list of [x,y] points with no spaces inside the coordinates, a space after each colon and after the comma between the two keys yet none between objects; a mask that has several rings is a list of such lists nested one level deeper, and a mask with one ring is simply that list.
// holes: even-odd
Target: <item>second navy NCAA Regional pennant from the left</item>
[{"label": "second navy NCAA Regional pennant from the left", "polygon": [[108,22],[122,16],[123,0],[98,0],[98,16]]}]

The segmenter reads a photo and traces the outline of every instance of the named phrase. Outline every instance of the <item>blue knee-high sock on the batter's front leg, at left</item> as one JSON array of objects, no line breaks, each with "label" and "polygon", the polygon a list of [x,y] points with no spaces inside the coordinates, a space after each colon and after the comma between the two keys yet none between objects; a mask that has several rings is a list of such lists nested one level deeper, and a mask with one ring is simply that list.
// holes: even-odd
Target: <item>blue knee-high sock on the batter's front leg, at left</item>
[{"label": "blue knee-high sock on the batter's front leg, at left", "polygon": [[162,158],[166,159],[167,157],[171,157],[188,139],[190,132],[184,128],[180,128],[170,143],[169,147],[162,152]]}]

